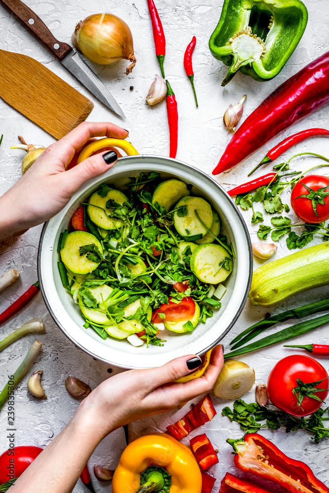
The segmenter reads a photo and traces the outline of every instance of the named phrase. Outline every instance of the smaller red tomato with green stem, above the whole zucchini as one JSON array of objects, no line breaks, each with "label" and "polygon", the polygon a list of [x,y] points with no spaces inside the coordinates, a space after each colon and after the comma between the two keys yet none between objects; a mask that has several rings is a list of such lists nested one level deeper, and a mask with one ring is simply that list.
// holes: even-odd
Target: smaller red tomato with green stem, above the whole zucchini
[{"label": "smaller red tomato with green stem, above the whole zucchini", "polygon": [[[307,190],[306,185],[311,191]],[[301,178],[292,189],[291,204],[296,216],[304,222],[318,223],[329,219],[329,178],[321,175],[308,175]],[[327,188],[327,190],[326,190]],[[321,189],[321,190],[319,190]],[[318,193],[315,193],[319,190]],[[327,195],[328,194],[328,195]],[[306,195],[306,197],[300,197]],[[317,214],[313,210],[315,200]],[[325,204],[319,203],[319,198]]]}]

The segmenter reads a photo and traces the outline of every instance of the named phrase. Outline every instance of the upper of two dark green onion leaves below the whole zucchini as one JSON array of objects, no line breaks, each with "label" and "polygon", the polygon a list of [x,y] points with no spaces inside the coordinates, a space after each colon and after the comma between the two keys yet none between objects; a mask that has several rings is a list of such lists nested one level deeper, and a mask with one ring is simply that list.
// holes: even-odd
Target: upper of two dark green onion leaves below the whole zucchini
[{"label": "upper of two dark green onion leaves below the whole zucchini", "polygon": [[[232,346],[234,344],[232,350],[235,350],[237,348],[240,348],[240,346],[246,344],[251,339],[254,339],[254,337],[267,329],[267,327],[271,327],[272,325],[279,322],[285,322],[286,320],[290,320],[291,318],[303,318],[318,312],[324,312],[325,310],[329,310],[329,298],[315,301],[314,303],[294,308],[293,310],[288,310],[278,315],[273,315],[272,317],[264,318],[263,320],[260,320],[251,327],[248,327],[248,329],[241,332],[241,334],[233,339],[230,345]],[[238,341],[240,342],[238,343]]]}]

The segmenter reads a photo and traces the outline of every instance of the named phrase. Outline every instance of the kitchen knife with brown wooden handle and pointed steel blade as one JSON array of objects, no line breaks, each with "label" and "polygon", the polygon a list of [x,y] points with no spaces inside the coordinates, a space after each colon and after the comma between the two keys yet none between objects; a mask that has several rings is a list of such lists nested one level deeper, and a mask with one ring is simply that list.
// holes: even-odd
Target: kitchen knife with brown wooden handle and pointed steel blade
[{"label": "kitchen knife with brown wooden handle and pointed steel blade", "polygon": [[110,91],[82,60],[79,54],[67,43],[58,41],[41,19],[21,0],[0,0],[37,37],[55,57],[83,84],[99,101],[114,113],[125,118]]}]

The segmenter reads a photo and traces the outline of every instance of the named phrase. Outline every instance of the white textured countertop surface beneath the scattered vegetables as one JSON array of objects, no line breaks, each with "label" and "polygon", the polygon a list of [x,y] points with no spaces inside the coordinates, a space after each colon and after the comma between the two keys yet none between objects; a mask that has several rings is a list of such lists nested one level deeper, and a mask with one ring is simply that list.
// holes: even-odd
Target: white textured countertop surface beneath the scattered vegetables
[{"label": "white textured countertop surface beneath the scattered vegetables", "polygon": [[[110,89],[112,95],[126,114],[127,119],[121,120],[112,114],[93,96],[44,48],[8,11],[0,6],[0,48],[16,53],[22,53],[36,58],[48,69],[55,72],[65,81],[90,98],[95,107],[89,115],[89,121],[112,121],[122,125],[130,131],[129,140],[140,153],[169,154],[169,137],[167,127],[166,104],[150,107],[146,105],[145,96],[154,78],[159,73],[159,67],[154,53],[151,24],[147,11],[146,0],[27,0],[31,7],[51,29],[52,33],[61,41],[71,42],[75,24],[87,15],[96,12],[110,12],[124,19],[130,26],[133,37],[137,64],[133,72],[124,75],[126,61],[111,66],[97,66],[90,64],[101,80]],[[227,68],[213,58],[208,48],[208,40],[219,20],[223,0],[158,0],[156,2],[162,19],[167,40],[167,54],[165,59],[166,75],[175,91],[179,109],[179,145],[177,158],[211,173],[222,154],[230,136],[222,124],[222,116],[229,104],[236,104],[244,94],[248,94],[243,118],[248,116],[261,101],[277,86],[306,64],[322,55],[329,49],[329,13],[328,0],[305,0],[309,12],[309,22],[298,47],[293,53],[282,72],[273,80],[262,83],[251,77],[238,73],[225,87],[220,86]],[[197,45],[193,55],[194,80],[199,100],[196,109],[190,87],[183,69],[183,53],[192,35],[196,35]],[[134,86],[130,91],[129,87]],[[36,87],[37,91],[37,87]],[[41,97],[41,95],[40,95]],[[231,171],[220,175],[217,180],[225,189],[247,181],[248,172],[258,163],[275,143],[283,140],[300,130],[311,127],[328,127],[328,106],[309,115],[295,124],[281,135],[267,143],[244,163]],[[21,175],[21,160],[23,151],[10,150],[10,146],[18,143],[17,136],[22,135],[27,142],[48,145],[54,139],[30,122],[16,110],[0,100],[0,134],[3,141],[0,147],[0,193],[12,186]],[[298,150],[297,150],[298,149]],[[298,145],[296,152],[319,152],[329,156],[329,145],[326,139],[313,139]],[[295,153],[292,148],[284,158]],[[294,170],[307,170],[315,165],[315,158],[298,158],[292,163]],[[271,166],[264,167],[264,173],[269,172]],[[326,169],[320,173],[328,174]],[[289,200],[287,195],[287,201]],[[258,206],[258,210],[261,210]],[[22,211],[23,212],[23,211]],[[266,215],[266,214],[265,214]],[[297,222],[293,213],[289,214],[292,223]],[[248,224],[252,241],[256,241],[257,225],[250,224],[251,214],[243,212]],[[264,224],[270,224],[270,216],[266,215]],[[37,280],[37,247],[42,226],[31,229],[22,237],[8,242],[0,250],[0,275],[10,268],[20,272],[20,279],[0,294],[0,311],[2,312],[11,302],[16,300],[32,283]],[[321,243],[317,237],[309,245]],[[289,253],[285,239],[278,244],[275,258]],[[261,261],[255,259],[255,267]],[[274,310],[253,307],[248,301],[235,326],[222,341],[227,348],[229,341],[246,327],[259,320],[270,311],[280,313],[288,308],[301,306],[329,295],[329,288],[322,287],[301,293]],[[20,312],[16,317],[0,327],[0,338],[7,335],[14,328],[19,327],[32,317],[39,317],[45,323],[46,333],[39,336],[43,343],[42,350],[34,364],[34,369],[43,369],[43,386],[46,400],[38,400],[27,391],[28,376],[23,378],[16,388],[15,397],[15,444],[16,445],[47,445],[51,437],[56,435],[73,416],[79,400],[71,397],[65,389],[65,379],[76,376],[96,387],[109,377],[109,365],[94,360],[88,354],[77,349],[61,330],[55,325],[42,301],[41,295]],[[282,327],[289,323],[281,324]],[[280,326],[281,327],[281,326]],[[269,329],[272,333],[279,326]],[[6,376],[16,369],[26,353],[26,348],[35,340],[35,334],[30,334],[18,340],[0,353],[1,388],[6,382]],[[311,334],[305,334],[294,340],[296,344],[327,343],[328,326],[323,326]],[[274,364],[285,355],[292,354],[282,344],[244,355],[241,360],[254,367],[256,383],[267,381],[268,374]],[[328,359],[318,358],[329,370]],[[112,368],[112,375],[121,371]],[[127,396],[129,399],[129,396]],[[244,397],[247,402],[255,400],[254,389]],[[195,400],[194,402],[197,402]],[[213,466],[210,472],[217,478],[214,492],[218,492],[219,483],[226,471],[239,475],[233,464],[231,447],[226,444],[228,437],[238,438],[243,435],[236,423],[230,423],[228,418],[221,416],[221,410],[232,401],[224,401],[213,396],[217,409],[217,416],[210,423],[193,431],[190,436],[207,432],[215,448],[219,449],[219,464]],[[327,401],[328,405],[328,401]],[[134,423],[131,428],[132,436],[137,436],[140,430],[148,426],[164,430],[169,423],[177,421],[189,409],[190,403],[182,410],[176,410],[165,415],[158,415]],[[0,453],[8,447],[6,438],[6,406],[0,413]],[[275,445],[289,456],[305,461],[315,475],[329,486],[329,439],[323,439],[316,445],[307,432],[299,430],[286,434],[284,430],[262,431]],[[183,440],[188,443],[187,440]],[[96,449],[90,458],[89,466],[98,462],[114,468],[122,450],[125,447],[122,428],[108,436]],[[111,487],[106,483],[99,483],[93,478],[96,492],[110,492]],[[78,481],[74,488],[75,493],[86,492],[86,488]]]}]

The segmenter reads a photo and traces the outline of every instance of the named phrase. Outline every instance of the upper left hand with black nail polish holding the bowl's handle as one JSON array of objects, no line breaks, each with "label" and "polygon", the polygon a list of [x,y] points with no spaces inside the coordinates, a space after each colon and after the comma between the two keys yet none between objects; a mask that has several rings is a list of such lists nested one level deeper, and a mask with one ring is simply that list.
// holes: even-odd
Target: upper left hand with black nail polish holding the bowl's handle
[{"label": "upper left hand with black nail polish holding the bowl's handle", "polygon": [[74,154],[93,137],[126,139],[128,132],[111,123],[84,122],[49,145],[17,183],[0,197],[0,240],[47,221],[63,209],[85,181],[102,175],[115,164],[116,153],[105,151],[66,171]]}]

